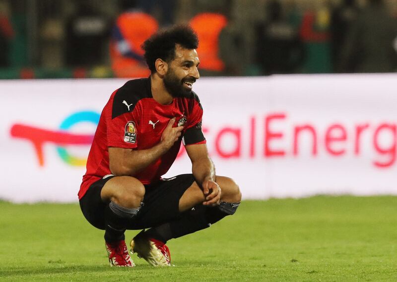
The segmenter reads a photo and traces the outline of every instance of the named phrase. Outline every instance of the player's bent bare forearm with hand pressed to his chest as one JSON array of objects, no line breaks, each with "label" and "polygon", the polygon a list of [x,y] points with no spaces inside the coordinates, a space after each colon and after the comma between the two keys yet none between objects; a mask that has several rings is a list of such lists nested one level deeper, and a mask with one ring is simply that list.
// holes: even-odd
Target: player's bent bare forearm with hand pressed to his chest
[{"label": "player's bent bare forearm with hand pressed to his chest", "polygon": [[140,170],[166,153],[181,136],[182,126],[172,127],[175,118],[165,128],[161,141],[145,150],[109,147],[109,168],[114,175],[136,175]]}]

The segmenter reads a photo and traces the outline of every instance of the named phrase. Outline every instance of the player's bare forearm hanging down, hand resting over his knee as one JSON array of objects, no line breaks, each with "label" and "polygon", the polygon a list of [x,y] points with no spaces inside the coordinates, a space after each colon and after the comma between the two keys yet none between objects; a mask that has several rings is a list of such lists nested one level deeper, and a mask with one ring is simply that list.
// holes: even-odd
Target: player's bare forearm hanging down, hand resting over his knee
[{"label": "player's bare forearm hanging down, hand resting over his knee", "polygon": [[206,144],[187,145],[186,151],[192,161],[192,172],[205,196],[203,205],[219,205],[221,191],[215,182],[215,166],[208,156]]}]

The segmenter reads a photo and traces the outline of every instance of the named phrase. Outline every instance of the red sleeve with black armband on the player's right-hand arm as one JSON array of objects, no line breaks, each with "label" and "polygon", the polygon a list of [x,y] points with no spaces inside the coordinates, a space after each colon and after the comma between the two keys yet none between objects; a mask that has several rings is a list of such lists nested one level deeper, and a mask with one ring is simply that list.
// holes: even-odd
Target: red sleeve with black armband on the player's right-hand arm
[{"label": "red sleeve with black armband on the player's right-hand arm", "polygon": [[202,107],[199,99],[194,101],[192,113],[188,119],[188,125],[183,135],[182,141],[184,145],[203,144],[205,138],[201,129],[202,124]]}]

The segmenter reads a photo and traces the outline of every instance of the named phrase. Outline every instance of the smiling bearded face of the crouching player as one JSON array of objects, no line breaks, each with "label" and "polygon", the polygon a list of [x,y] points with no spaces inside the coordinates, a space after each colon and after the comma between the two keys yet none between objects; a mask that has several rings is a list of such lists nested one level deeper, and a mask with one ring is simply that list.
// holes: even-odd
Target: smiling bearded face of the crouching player
[{"label": "smiling bearded face of the crouching player", "polygon": [[175,58],[168,63],[164,85],[173,97],[186,97],[192,92],[193,83],[199,79],[200,64],[196,49],[175,47]]}]

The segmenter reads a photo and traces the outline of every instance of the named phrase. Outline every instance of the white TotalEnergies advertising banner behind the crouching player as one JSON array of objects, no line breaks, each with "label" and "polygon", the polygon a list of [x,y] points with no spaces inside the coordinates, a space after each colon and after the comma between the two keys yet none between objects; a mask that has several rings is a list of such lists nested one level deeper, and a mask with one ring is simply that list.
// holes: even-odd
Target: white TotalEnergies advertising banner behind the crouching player
[{"label": "white TotalEnergies advertising banner behind the crouching player", "polygon": [[[100,112],[126,80],[0,81],[0,199],[73,202]],[[218,175],[244,199],[397,195],[397,75],[201,78]],[[182,149],[165,177],[190,173]]]}]

